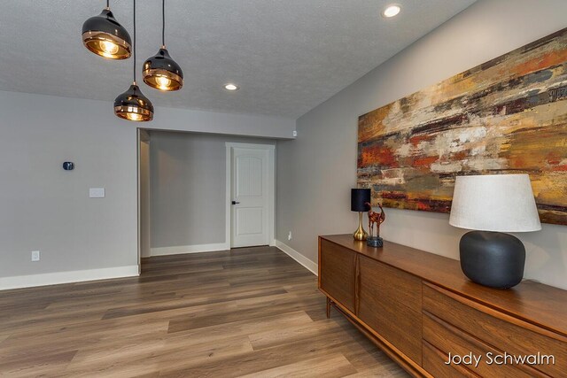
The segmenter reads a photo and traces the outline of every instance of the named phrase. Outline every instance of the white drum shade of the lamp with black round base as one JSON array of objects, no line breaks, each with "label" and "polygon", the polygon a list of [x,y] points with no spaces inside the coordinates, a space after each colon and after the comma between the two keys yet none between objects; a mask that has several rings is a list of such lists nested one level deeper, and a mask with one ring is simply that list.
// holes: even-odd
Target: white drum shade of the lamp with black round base
[{"label": "white drum shade of the lamp with black round base", "polygon": [[527,174],[457,176],[449,224],[480,231],[541,229]]}]

